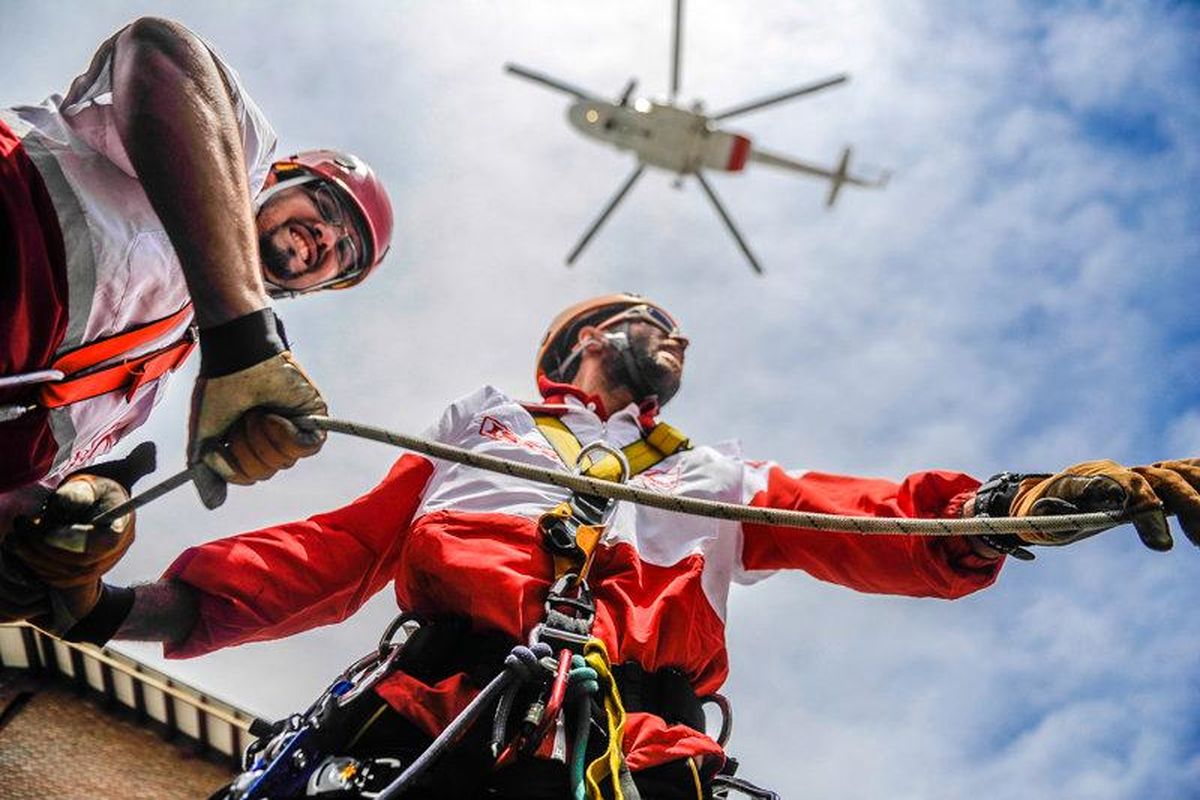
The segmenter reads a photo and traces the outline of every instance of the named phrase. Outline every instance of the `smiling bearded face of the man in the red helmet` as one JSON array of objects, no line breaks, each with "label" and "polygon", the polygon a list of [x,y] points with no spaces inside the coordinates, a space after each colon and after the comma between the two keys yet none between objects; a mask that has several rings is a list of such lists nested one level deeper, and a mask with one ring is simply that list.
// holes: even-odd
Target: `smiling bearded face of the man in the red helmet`
[{"label": "smiling bearded face of the man in the red helmet", "polygon": [[362,237],[344,205],[319,182],[283,190],[258,210],[263,276],[302,290],[358,266]]}]

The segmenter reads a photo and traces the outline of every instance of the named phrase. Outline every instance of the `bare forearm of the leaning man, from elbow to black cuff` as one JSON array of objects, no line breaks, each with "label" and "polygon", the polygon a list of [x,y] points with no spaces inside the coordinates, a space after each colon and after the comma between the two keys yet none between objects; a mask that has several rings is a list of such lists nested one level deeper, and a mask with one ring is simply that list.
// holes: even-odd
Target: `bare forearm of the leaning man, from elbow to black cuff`
[{"label": "bare forearm of the leaning man, from elbow to black cuff", "polygon": [[208,48],[182,26],[139,19],[118,40],[118,130],[179,254],[202,327],[266,305],[241,134]]}]

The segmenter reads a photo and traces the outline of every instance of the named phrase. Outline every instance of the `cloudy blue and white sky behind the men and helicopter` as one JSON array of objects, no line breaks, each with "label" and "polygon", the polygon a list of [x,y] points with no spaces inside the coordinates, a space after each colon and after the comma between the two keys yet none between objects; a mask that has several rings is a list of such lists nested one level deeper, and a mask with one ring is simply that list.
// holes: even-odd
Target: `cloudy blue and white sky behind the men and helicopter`
[{"label": "cloudy blue and white sky behind the men and helicopter", "polygon": [[[0,102],[64,91],[112,30],[169,16],[234,64],[284,150],[332,143],[394,186],[398,235],[378,279],[281,308],[340,416],[415,432],[485,381],[527,396],[554,311],[630,289],[692,336],[668,419],[695,439],[739,438],[754,457],[985,477],[1200,455],[1194,4],[694,0],[684,98],[720,108],[850,72],[737,130],[829,164],[850,143],[864,170],[894,170],[886,192],[847,190],[833,212],[816,181],[715,176],[764,278],[697,188],[661,174],[562,266],[631,164],[502,65],[611,95],[636,74],[661,96],[666,2],[82,8],[6,5]],[[180,458],[185,385],[145,428],[164,467]],[[180,492],[146,509],[115,578],[149,579],[188,543],[342,504],[395,455],[334,439],[215,513]],[[736,590],[731,750],[785,798],[1196,796],[1198,575],[1186,541],[1153,554],[1127,528],[1010,564],[954,603],[799,573]],[[168,669],[282,715],[371,646],[390,602]]]}]

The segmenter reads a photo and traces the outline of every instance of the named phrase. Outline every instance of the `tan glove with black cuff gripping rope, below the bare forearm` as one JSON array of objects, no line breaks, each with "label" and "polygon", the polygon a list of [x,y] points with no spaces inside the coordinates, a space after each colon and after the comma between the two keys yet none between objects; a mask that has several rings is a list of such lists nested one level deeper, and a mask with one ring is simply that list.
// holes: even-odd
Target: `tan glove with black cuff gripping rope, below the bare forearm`
[{"label": "tan glove with black cuff gripping rope, below the bare forearm", "polygon": [[316,453],[325,434],[289,417],[326,413],[269,308],[202,330],[187,441],[188,463],[203,464],[194,475],[200,500],[215,509],[227,482],[256,483]]}]

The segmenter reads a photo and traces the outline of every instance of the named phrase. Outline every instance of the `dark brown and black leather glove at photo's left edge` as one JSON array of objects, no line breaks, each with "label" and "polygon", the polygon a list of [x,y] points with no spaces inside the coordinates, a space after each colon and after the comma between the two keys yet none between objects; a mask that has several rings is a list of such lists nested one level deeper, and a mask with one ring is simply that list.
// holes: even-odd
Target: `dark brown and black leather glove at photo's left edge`
[{"label": "dark brown and black leather glove at photo's left edge", "polygon": [[[13,619],[62,634],[86,616],[101,597],[101,576],[133,543],[134,518],[127,513],[96,525],[91,519],[130,499],[130,489],[155,469],[155,447],[144,443],[119,461],[68,476],[35,517],[17,519],[4,541],[8,585],[24,578],[26,609]],[[20,597],[8,597],[19,603]]]}]

